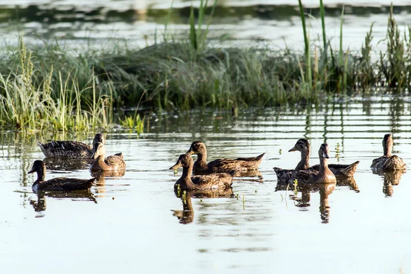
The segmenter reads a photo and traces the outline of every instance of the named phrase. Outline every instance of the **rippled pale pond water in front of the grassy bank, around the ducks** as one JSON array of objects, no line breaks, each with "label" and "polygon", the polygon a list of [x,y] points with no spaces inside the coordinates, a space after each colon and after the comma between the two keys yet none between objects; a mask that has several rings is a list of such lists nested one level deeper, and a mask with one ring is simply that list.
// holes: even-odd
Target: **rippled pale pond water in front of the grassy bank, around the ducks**
[{"label": "rippled pale pond water in front of the grassy bank, around the ducks", "polygon": [[[40,197],[32,192],[35,177],[27,171],[44,158],[36,141],[56,136],[1,132],[1,269],[406,273],[410,173],[390,181],[369,166],[382,155],[382,138],[389,132],[394,152],[410,166],[410,110],[409,99],[372,97],[318,108],[239,110],[236,117],[210,110],[151,114],[144,134],[106,134],[108,154],[124,154],[125,175],[99,177],[90,193]],[[93,135],[66,138],[90,143]],[[297,195],[276,190],[273,166],[295,167],[299,153],[287,151],[304,137],[312,145],[311,164],[318,163],[323,142],[331,149],[329,162],[360,160],[355,181],[300,189]],[[235,178],[232,193],[221,197],[176,197],[173,184],[182,171],[174,175],[169,167],[194,140],[206,143],[209,160],[265,152],[263,179]],[[90,177],[87,169],[67,171],[60,162],[48,162],[47,168],[47,178]]]}]

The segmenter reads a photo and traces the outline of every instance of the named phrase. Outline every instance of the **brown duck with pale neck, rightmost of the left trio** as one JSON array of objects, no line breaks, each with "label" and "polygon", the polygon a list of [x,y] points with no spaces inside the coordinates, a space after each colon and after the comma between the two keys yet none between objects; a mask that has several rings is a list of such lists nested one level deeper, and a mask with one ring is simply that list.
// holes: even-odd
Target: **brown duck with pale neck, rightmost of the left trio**
[{"label": "brown duck with pale neck, rightmost of the left trio", "polygon": [[125,162],[123,153],[116,153],[114,155],[104,158],[105,147],[102,142],[96,142],[93,147],[94,153],[91,158],[95,159],[90,166],[90,171],[123,171],[125,170]]}]

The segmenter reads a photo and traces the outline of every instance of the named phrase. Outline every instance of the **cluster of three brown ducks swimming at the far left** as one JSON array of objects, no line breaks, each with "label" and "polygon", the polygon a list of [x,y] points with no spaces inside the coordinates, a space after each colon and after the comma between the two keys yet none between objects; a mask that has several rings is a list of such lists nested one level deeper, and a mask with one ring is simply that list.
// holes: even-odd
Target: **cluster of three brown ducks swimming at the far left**
[{"label": "cluster of three brown ducks swimming at the far left", "polygon": [[[37,142],[41,151],[46,158],[64,158],[64,159],[85,159],[90,161],[90,171],[125,171],[125,162],[122,153],[105,158],[105,138],[103,134],[98,133],[92,140],[92,147],[77,141],[53,141],[42,144]],[[46,165],[41,160],[36,160],[32,169],[28,173],[37,173],[37,179],[32,184],[32,190],[38,192],[40,190],[86,190],[89,189],[95,182],[96,178],[92,179],[76,179],[58,177],[45,180]]]}]

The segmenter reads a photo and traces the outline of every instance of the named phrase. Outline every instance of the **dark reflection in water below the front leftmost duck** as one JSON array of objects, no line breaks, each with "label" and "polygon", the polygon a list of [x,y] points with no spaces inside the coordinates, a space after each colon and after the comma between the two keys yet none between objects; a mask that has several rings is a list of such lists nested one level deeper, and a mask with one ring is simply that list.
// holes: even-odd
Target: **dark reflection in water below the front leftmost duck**
[{"label": "dark reflection in water below the front leftmost duck", "polygon": [[94,197],[90,190],[76,190],[71,192],[61,191],[43,191],[39,190],[37,193],[37,201],[30,199],[30,204],[33,206],[35,212],[45,211],[47,208],[46,197],[53,197],[57,199],[88,199],[97,203],[97,199]]}]

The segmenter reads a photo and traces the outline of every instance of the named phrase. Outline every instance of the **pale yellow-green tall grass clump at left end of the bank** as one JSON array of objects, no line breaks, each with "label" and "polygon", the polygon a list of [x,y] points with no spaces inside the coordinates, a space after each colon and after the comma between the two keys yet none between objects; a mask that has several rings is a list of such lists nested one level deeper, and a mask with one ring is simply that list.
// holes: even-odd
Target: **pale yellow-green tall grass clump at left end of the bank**
[{"label": "pale yellow-green tall grass clump at left end of the bank", "polygon": [[[27,50],[23,37],[16,56],[15,69],[8,74],[0,73],[1,127],[84,131],[109,125],[112,102],[104,95],[96,95],[95,77],[80,87],[77,77],[70,72],[66,77],[58,72],[58,78],[53,79],[53,66],[39,76],[34,55]],[[84,93],[90,93],[91,99],[84,99]]]}]

